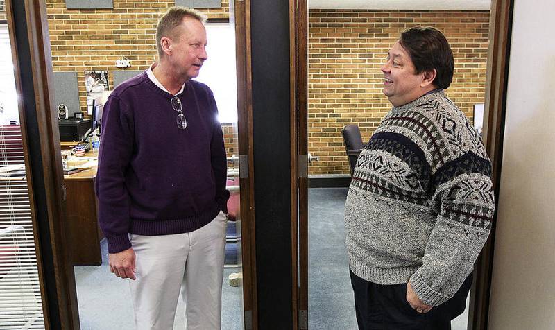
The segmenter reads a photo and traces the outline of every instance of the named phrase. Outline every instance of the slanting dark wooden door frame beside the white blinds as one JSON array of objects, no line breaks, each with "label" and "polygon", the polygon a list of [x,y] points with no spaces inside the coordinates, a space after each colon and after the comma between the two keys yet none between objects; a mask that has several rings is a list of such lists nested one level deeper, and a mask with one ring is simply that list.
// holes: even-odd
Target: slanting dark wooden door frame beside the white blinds
[{"label": "slanting dark wooden door frame beside the white blinds", "polygon": [[65,243],[65,196],[46,4],[6,0],[37,266],[46,329],[78,329],[74,270]]}]

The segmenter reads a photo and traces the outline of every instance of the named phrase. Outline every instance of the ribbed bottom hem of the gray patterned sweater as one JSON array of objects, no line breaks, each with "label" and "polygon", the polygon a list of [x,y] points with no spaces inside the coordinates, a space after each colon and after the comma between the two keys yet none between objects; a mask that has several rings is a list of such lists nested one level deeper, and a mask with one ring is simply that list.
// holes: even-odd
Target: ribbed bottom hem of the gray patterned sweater
[{"label": "ribbed bottom hem of the gray patterned sweater", "polygon": [[411,275],[420,268],[420,266],[374,268],[356,259],[349,260],[349,267],[361,279],[382,285],[407,283]]}]

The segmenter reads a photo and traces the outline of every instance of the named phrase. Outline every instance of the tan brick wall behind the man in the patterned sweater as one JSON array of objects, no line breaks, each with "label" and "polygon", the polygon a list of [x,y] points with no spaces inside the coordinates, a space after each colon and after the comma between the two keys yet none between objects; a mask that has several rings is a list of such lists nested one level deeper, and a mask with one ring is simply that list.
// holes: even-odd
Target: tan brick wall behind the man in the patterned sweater
[{"label": "tan brick wall behind the man in the patterned sweater", "polygon": [[309,174],[348,174],[341,128],[357,123],[364,143],[391,104],[382,94],[379,70],[400,33],[434,26],[447,37],[455,58],[450,97],[472,119],[484,103],[488,11],[310,10],[309,153],[320,156]]}]

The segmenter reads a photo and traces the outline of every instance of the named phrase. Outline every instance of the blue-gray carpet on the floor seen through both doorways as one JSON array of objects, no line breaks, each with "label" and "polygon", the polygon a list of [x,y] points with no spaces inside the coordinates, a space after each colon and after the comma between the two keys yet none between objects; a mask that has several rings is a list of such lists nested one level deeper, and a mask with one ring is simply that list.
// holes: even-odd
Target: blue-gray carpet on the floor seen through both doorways
[{"label": "blue-gray carpet on the floor seen through both doorways", "polygon": [[[309,192],[309,329],[357,329],[345,250],[346,196],[346,188],[317,188]],[[110,274],[105,241],[101,248],[103,266],[75,267],[81,329],[133,329],[129,285],[127,280]],[[237,269],[224,270],[222,329],[237,330],[242,327],[242,293],[241,288],[228,285],[231,272]],[[183,315],[180,301],[174,329],[183,329]],[[467,318],[467,312],[456,318],[453,330],[466,330]]]}]

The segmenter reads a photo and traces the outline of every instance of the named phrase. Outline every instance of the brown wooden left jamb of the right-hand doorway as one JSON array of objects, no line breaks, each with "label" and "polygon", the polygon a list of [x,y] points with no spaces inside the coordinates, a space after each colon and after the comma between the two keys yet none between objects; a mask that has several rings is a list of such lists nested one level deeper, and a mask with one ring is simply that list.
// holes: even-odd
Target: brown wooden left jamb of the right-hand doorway
[{"label": "brown wooden left jamb of the right-hand doorway", "polygon": [[293,329],[308,329],[308,1],[289,0],[291,295]]}]

